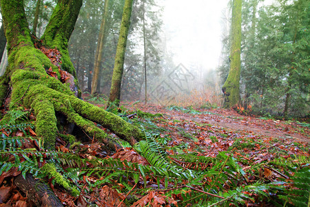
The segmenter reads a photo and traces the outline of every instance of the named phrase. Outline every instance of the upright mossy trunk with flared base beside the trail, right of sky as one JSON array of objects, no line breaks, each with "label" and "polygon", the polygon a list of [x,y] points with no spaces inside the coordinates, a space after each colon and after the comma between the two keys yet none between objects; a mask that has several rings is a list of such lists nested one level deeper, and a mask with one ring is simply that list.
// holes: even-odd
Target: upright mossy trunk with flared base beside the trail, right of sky
[{"label": "upright mossy trunk with flared base beside the trail, right of sky", "polygon": [[240,101],[241,8],[242,0],[234,0],[231,18],[231,62],[228,77],[222,87],[225,108],[231,108]]}]

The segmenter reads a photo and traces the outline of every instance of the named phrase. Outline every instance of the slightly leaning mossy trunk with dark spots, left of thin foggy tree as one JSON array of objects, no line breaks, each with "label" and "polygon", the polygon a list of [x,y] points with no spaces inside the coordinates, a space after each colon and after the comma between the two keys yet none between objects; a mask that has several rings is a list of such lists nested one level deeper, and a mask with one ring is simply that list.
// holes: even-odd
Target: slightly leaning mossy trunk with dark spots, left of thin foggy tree
[{"label": "slightly leaning mossy trunk with dark spots, left of thin foggy tree", "polygon": [[132,14],[132,1],[125,0],[125,6],[123,10],[123,17],[121,23],[121,30],[119,32],[118,43],[116,48],[116,56],[114,63],[114,70],[112,75],[112,83],[110,90],[110,102],[116,101],[119,104],[121,98],[121,81],[124,69],[125,50],[127,44],[127,36],[130,28],[130,16]]}]

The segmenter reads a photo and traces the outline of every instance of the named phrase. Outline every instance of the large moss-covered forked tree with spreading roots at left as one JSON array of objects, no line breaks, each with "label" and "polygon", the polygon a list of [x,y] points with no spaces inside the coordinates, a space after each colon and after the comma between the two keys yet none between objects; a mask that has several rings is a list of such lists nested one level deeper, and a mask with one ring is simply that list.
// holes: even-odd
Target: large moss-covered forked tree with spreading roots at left
[{"label": "large moss-covered forked tree with spreading roots at left", "polygon": [[[18,106],[34,110],[36,133],[45,148],[53,149],[55,139],[61,132],[56,125],[58,117],[55,112],[65,115],[68,122],[79,126],[90,137],[101,139],[110,148],[114,148],[115,139],[97,128],[94,122],[133,143],[143,137],[141,130],[79,99],[81,92],[70,61],[68,40],[81,5],[82,0],[59,0],[39,41],[30,34],[23,0],[1,0],[9,62],[5,77],[0,79],[1,101],[10,86],[10,110]],[[42,48],[59,55],[54,54],[50,59]],[[51,73],[54,75],[49,75]],[[68,81],[61,79],[64,73],[69,77]]]}]

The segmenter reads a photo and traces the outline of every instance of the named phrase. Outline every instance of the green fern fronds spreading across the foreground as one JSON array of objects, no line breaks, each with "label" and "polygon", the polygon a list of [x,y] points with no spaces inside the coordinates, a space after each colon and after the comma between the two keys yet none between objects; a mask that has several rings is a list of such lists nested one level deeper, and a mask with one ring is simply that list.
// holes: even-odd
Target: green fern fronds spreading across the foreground
[{"label": "green fern fronds spreading across the foreground", "polygon": [[[16,130],[25,132],[25,128],[33,125],[27,120],[21,121],[22,113],[12,113],[15,119],[10,117],[10,125],[4,124],[3,130],[12,133]],[[71,190],[72,195],[81,193],[85,185],[91,191],[105,184],[122,184],[123,193],[132,190],[128,181],[135,184],[144,184],[137,192],[143,195],[148,190],[164,190],[165,196],[174,197],[179,206],[235,206],[259,203],[264,199],[274,200],[274,204],[281,206],[309,206],[309,158],[294,157],[292,160],[274,159],[270,164],[281,166],[295,172],[291,181],[267,183],[260,179],[250,182],[248,177],[258,176],[262,164],[251,166],[250,170],[243,170],[240,161],[229,156],[229,152],[219,152],[217,157],[204,157],[194,154],[169,155],[165,151],[167,137],[161,137],[145,130],[145,140],[140,141],[134,148],[140,152],[149,165],[131,163],[126,160],[101,159],[92,157],[85,159],[72,151],[45,151],[43,148],[22,149],[24,139],[37,142],[36,137],[9,137],[2,135],[0,141],[0,174],[12,168],[21,170],[22,175],[30,172],[34,177],[56,177],[54,182]],[[127,142],[120,141],[124,148],[131,147]],[[298,159],[298,162],[296,161]],[[291,164],[293,163],[295,164]],[[43,169],[42,164],[45,164]],[[249,163],[245,163],[249,165]],[[91,167],[90,167],[91,166]],[[86,179],[85,179],[86,177]],[[87,179],[92,177],[92,180]],[[142,179],[142,180],[141,180]],[[157,186],[148,186],[147,183],[156,182]],[[288,186],[288,187],[287,187]],[[70,191],[70,190],[69,190]],[[121,193],[121,190],[119,190]],[[216,195],[216,196],[215,196]],[[275,195],[280,195],[276,197]]]}]

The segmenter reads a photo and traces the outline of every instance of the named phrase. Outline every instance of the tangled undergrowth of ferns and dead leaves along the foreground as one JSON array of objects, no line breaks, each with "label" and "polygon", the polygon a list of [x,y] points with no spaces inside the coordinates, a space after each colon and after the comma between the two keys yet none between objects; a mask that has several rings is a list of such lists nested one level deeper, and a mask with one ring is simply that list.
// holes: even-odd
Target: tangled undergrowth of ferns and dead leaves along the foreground
[{"label": "tangled undergrowth of ferns and dead leaves along the foreground", "polygon": [[[192,108],[176,108],[196,113]],[[118,115],[128,113],[125,108],[114,110]],[[131,114],[131,113],[130,113]],[[119,195],[132,194],[123,200],[127,206],[145,206],[160,201],[163,206],[309,206],[309,157],[267,157],[252,160],[242,150],[264,147],[254,139],[236,139],[227,150],[214,157],[185,153],[184,146],[172,146],[173,139],[156,125],[158,117],[136,111],[136,117],[127,119],[141,126],[145,140],[132,149],[125,141],[119,152],[138,152],[146,163],[81,154],[72,148],[45,150],[34,133],[34,124],[28,120],[29,111],[15,110],[0,122],[0,174],[16,168],[25,177],[34,177],[64,188],[73,197],[83,196],[89,204],[98,189],[109,186]],[[126,117],[124,117],[126,118]],[[20,134],[23,136],[19,136]],[[192,135],[180,133],[183,136]],[[225,134],[226,135],[226,134]],[[219,144],[226,136],[211,136],[211,144]],[[60,137],[61,139],[61,137]],[[227,138],[228,139],[228,138]],[[200,140],[200,139],[199,139]],[[192,142],[199,141],[198,139]],[[32,148],[26,148],[31,144]],[[185,148],[189,148],[187,144]],[[78,146],[76,146],[78,148]],[[172,148],[178,150],[172,151]],[[274,149],[273,149],[274,148]],[[276,150],[280,146],[273,146]],[[81,149],[80,149],[81,150]],[[79,152],[79,153],[78,153]],[[134,154],[138,155],[138,154]],[[271,154],[273,155],[273,154]],[[87,186],[87,187],[85,187]],[[120,187],[121,186],[121,187]]]}]

